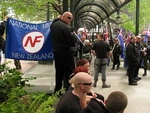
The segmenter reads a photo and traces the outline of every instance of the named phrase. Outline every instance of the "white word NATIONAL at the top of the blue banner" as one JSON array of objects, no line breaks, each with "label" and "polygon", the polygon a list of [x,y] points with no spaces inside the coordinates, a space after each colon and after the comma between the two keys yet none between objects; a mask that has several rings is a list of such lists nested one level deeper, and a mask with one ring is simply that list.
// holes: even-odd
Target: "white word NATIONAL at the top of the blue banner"
[{"label": "white word NATIONAL at the top of the blue banner", "polygon": [[15,20],[10,20],[9,24],[11,24],[12,26],[22,28],[22,29],[38,30],[38,26],[36,24],[27,24],[27,23],[15,21]]}]

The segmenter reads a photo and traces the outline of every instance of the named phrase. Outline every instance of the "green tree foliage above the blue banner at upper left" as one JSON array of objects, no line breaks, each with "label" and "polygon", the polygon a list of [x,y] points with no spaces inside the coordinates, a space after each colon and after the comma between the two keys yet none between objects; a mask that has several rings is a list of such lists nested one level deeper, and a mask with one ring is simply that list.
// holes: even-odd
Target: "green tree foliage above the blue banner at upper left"
[{"label": "green tree foliage above the blue banner at upper left", "polygon": [[[9,13],[11,8],[13,16],[24,21],[46,21],[47,13],[51,14],[51,19],[62,13],[60,0],[1,0],[0,3],[1,11]],[[47,12],[48,8],[50,12]]]}]

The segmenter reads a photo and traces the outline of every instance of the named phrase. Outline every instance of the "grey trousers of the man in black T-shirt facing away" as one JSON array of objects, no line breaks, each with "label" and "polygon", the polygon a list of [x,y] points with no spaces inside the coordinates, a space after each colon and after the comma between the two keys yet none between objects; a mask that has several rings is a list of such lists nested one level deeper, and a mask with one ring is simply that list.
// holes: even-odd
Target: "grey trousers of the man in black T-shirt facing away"
[{"label": "grey trousers of the man in black T-shirt facing away", "polygon": [[107,58],[96,58],[94,61],[94,81],[98,81],[99,72],[102,73],[101,80],[103,82],[106,81],[106,64],[107,64]]}]

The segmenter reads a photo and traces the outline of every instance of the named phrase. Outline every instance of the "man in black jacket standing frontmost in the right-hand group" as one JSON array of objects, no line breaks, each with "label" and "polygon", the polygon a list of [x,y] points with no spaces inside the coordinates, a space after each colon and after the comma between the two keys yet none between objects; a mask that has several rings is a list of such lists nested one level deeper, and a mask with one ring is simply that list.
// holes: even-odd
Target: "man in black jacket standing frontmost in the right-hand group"
[{"label": "man in black jacket standing frontmost in the right-hand group", "polygon": [[128,80],[129,85],[137,85],[137,80],[135,80],[135,76],[137,76],[137,69],[140,65],[140,51],[136,45],[136,37],[132,36],[130,39],[130,43],[126,48],[126,60],[128,64]]}]

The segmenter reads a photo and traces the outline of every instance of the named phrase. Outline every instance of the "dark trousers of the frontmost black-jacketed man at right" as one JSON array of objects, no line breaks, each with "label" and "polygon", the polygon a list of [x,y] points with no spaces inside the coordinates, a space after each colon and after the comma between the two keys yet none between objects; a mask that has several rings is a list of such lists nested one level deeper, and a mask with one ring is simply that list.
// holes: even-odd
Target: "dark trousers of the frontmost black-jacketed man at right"
[{"label": "dark trousers of the frontmost black-jacketed man at right", "polygon": [[129,80],[129,83],[133,82],[134,81],[134,78],[135,78],[135,74],[137,73],[137,68],[138,68],[138,65],[129,65],[128,67],[128,80]]}]

